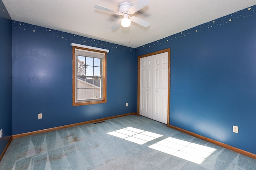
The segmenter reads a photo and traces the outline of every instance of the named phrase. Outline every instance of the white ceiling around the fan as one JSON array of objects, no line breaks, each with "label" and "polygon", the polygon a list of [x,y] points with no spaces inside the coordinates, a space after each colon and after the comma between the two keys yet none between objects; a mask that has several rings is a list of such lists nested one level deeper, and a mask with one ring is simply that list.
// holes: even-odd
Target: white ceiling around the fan
[{"label": "white ceiling around the fan", "polygon": [[[139,47],[256,4],[256,0],[149,0],[132,16],[151,23],[144,28],[110,28],[121,18],[94,8],[118,11],[120,2],[137,0],[2,0],[12,20],[106,42]],[[130,43],[131,42],[131,43]]]}]

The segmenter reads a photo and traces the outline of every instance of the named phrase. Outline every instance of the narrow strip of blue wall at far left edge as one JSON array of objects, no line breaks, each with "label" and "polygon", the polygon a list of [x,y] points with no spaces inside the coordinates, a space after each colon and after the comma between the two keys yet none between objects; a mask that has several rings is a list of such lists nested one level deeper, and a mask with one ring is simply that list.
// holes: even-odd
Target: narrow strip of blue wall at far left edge
[{"label": "narrow strip of blue wall at far left edge", "polygon": [[0,0],[0,154],[12,136],[12,21]]}]

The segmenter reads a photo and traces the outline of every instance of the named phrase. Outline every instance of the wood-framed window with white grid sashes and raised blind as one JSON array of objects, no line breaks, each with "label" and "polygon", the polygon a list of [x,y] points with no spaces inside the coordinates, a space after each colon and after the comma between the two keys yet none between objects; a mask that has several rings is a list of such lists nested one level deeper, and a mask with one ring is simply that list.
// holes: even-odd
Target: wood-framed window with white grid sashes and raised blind
[{"label": "wood-framed window with white grid sashes and raised blind", "polygon": [[72,46],[73,106],[106,103],[106,52]]}]

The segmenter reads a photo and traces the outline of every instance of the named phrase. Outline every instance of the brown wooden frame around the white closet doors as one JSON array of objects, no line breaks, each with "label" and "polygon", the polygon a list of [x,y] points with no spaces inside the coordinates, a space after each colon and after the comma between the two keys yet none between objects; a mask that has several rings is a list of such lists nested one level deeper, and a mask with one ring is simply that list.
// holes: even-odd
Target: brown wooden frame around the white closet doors
[{"label": "brown wooden frame around the white closet doors", "polygon": [[148,54],[144,54],[144,55],[139,55],[138,56],[138,93],[137,93],[137,115],[140,115],[140,58],[143,57],[148,57],[151,55],[156,55],[156,54],[160,54],[160,53],[165,53],[168,52],[168,105],[167,105],[167,126],[169,127],[169,119],[170,119],[170,72],[171,72],[171,49],[167,48],[167,49],[162,49],[160,51],[156,51],[153,53],[148,53]]}]

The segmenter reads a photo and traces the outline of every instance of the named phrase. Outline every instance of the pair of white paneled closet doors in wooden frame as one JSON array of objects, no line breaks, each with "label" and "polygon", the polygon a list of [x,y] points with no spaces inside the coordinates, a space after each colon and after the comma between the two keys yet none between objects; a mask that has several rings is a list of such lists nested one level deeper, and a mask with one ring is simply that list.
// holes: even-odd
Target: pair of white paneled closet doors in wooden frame
[{"label": "pair of white paneled closet doors in wooden frame", "polygon": [[140,115],[167,124],[168,52],[140,58]]}]

